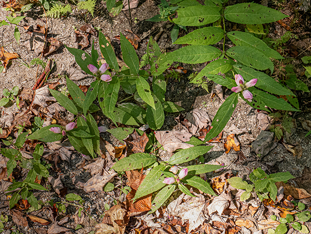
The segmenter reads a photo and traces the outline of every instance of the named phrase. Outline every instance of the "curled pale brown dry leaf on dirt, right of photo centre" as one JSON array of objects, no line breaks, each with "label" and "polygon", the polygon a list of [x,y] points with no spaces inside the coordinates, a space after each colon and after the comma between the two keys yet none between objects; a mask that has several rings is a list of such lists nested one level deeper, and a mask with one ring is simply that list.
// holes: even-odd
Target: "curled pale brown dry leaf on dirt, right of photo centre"
[{"label": "curled pale brown dry leaf on dirt, right of photo centre", "polygon": [[206,111],[201,109],[194,109],[186,114],[185,119],[188,122],[188,129],[190,133],[195,134],[198,130],[202,128],[207,128],[210,125],[211,120]]}]

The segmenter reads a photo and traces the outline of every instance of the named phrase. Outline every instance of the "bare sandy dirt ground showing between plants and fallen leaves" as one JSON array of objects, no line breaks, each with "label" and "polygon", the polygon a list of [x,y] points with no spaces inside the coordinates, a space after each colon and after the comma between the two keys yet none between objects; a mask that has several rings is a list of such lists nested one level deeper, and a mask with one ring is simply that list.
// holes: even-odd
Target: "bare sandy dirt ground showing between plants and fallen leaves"
[{"label": "bare sandy dirt ground showing between plants and fallen leaves", "polygon": [[[158,3],[159,2],[152,0],[146,0],[141,2],[138,8],[132,9],[131,11],[132,18],[136,18],[136,22],[133,20],[133,32],[140,37],[145,37],[142,39],[138,46],[137,53],[139,57],[145,53],[146,43],[148,42],[150,36],[155,36],[160,28],[164,29],[164,32],[158,41],[160,48],[170,51],[178,47],[177,45],[171,44],[170,30],[172,29],[173,24],[166,22],[155,23],[144,21],[145,19],[151,18],[158,14]],[[40,13],[37,14],[38,12]],[[45,25],[46,18],[37,18],[37,16],[41,15],[42,13],[43,12],[39,7],[31,9],[30,12],[26,13],[27,17],[24,19],[24,21],[21,21],[21,24],[32,26],[37,24],[42,26]],[[5,19],[7,15],[7,12],[0,11],[0,21]],[[308,19],[309,16],[304,15],[304,17]],[[58,39],[65,45],[73,47],[74,28],[80,28],[85,23],[88,23],[91,24],[94,28],[101,29],[106,36],[109,36],[112,40],[113,46],[115,47],[117,55],[118,53],[120,55],[120,42],[114,40],[113,37],[120,35],[120,32],[125,33],[124,30],[126,29],[131,30],[128,19],[128,11],[121,12],[120,15],[116,18],[110,17],[106,10],[105,3],[103,3],[95,10],[94,18],[88,14],[85,20],[85,14],[82,14],[82,12],[78,10],[73,10],[72,13],[64,18],[49,18],[47,21],[48,34]],[[277,23],[272,24],[270,33],[273,36],[279,37],[281,35],[280,31],[283,31],[280,29],[281,27]],[[23,42],[29,39],[30,35],[26,34],[26,30],[24,30],[22,27],[19,27],[19,30],[21,33],[20,44],[23,44]],[[8,52],[17,53],[21,58],[19,62],[24,61],[30,63],[30,61],[36,57],[34,51],[28,51],[24,46],[18,45],[15,41],[13,32],[13,26],[0,27],[0,45],[4,46],[5,50]],[[181,34],[185,34],[185,32],[181,32]],[[305,38],[310,39],[310,32],[308,32]],[[99,51],[98,37],[91,36],[90,41],[92,40],[95,42],[95,49]],[[305,55],[310,56],[310,46],[311,44],[303,44],[301,48],[296,49],[299,54],[302,53],[299,57]],[[89,46],[85,51],[90,54],[90,50],[91,48]],[[69,67],[76,66],[74,56],[70,54],[64,46],[60,47],[55,53],[44,57],[43,61],[47,62],[48,59],[54,59],[56,61],[56,68],[51,73],[52,78],[59,78],[60,75],[68,74]],[[202,69],[202,65],[200,65],[201,67],[199,68],[187,67],[187,65],[183,66],[188,69],[188,73],[181,75],[180,81],[174,79],[170,79],[168,81],[166,100],[172,101],[177,105],[185,108],[184,113],[189,112],[195,108],[205,110],[207,111],[209,117],[212,119],[216,114],[217,109],[222,105],[221,99],[217,95],[211,98],[211,94],[207,93],[206,90],[189,83],[188,76],[190,72]],[[299,66],[299,69],[301,69],[301,65]],[[20,89],[31,89],[35,84],[36,77],[38,77],[42,72],[40,69],[37,72],[36,66],[27,68],[25,65],[18,63],[17,60],[14,60],[12,65],[7,68],[5,73],[0,73],[0,93],[2,93],[4,88],[11,90],[14,86],[18,86]],[[65,83],[64,78],[62,78],[60,82]],[[92,78],[86,78],[77,81],[76,84],[89,85],[91,82]],[[310,79],[307,81],[307,85],[309,86],[310,90]],[[224,98],[228,97],[230,93],[230,90],[224,90]],[[204,156],[205,162],[208,164],[224,163],[225,165],[228,165],[226,169],[232,170],[234,174],[237,174],[242,178],[247,178],[249,173],[252,172],[253,168],[257,167],[261,167],[267,173],[289,171],[296,178],[304,176],[304,170],[311,168],[311,136],[307,138],[304,137],[307,133],[307,130],[302,127],[301,121],[311,120],[311,100],[310,95],[308,96],[305,93],[300,94],[299,101],[302,104],[302,111],[294,114],[293,116],[296,121],[296,127],[288,136],[289,142],[287,142],[287,144],[300,144],[302,151],[302,155],[300,157],[294,156],[293,153],[289,152],[285,148],[281,141],[277,140],[275,140],[276,147],[264,157],[260,158],[256,155],[256,153],[252,152],[251,144],[259,136],[261,131],[259,120],[257,118],[259,111],[257,109],[251,108],[240,99],[238,107],[233,112],[230,121],[224,129],[223,139],[225,139],[225,137],[229,134],[230,128],[232,126],[236,126],[240,129],[245,128],[245,132],[239,134],[237,137],[241,144],[241,151],[235,152],[234,150],[231,150],[229,153],[225,153],[223,143],[210,143],[210,145],[213,145],[214,147]],[[16,105],[13,105],[10,108],[2,107],[0,110],[0,120],[1,118],[4,118],[11,113],[15,114],[19,111]],[[178,114],[167,115],[165,117],[164,126],[161,128],[161,130],[174,129],[177,126],[177,122],[175,121],[177,116]],[[106,121],[103,121],[102,124],[109,127],[109,124]],[[111,143],[113,143],[109,133],[102,133],[102,136],[105,139],[110,139]],[[108,204],[110,207],[112,207],[114,205],[114,199],[120,199],[121,201],[125,199],[124,194],[120,196],[120,192],[118,190],[107,193],[85,193],[83,190],[78,189],[74,185],[72,178],[79,176],[84,181],[88,180],[91,175],[88,171],[83,169],[83,166],[88,163],[89,162],[87,162],[81,156],[81,154],[73,152],[71,155],[69,155],[69,161],[61,160],[61,162],[58,163],[58,167],[60,169],[58,172],[50,171],[50,174],[55,178],[60,175],[63,184],[68,188],[68,193],[79,194],[85,200],[83,206],[90,216],[85,216],[84,220],[80,223],[82,225],[81,229],[75,230],[77,225],[77,218],[75,219],[77,214],[76,207],[72,205],[67,206],[66,215],[69,217],[69,220],[63,224],[63,227],[68,228],[70,232],[74,234],[88,234],[91,231],[95,231],[95,222],[102,222],[104,212],[106,211],[105,205]],[[309,175],[310,174],[308,174],[308,176]],[[303,186],[302,188],[309,191],[309,193],[311,193],[311,183],[308,183],[307,180],[310,180],[310,178],[311,177],[305,178],[305,181],[300,180],[300,184]],[[120,179],[116,178],[114,179],[113,183],[117,185],[120,183],[125,183],[125,181],[121,181]],[[297,183],[299,183],[299,181]],[[3,184],[2,180],[2,190],[0,192],[0,211],[2,214],[9,216],[9,221],[6,223],[5,231],[2,232],[3,234],[11,234],[12,230],[14,229],[19,230],[20,233],[24,234],[48,233],[47,230],[49,227],[51,227],[51,225],[47,227],[38,225],[35,222],[28,222],[28,227],[17,225],[16,222],[14,222],[12,219],[12,212],[8,208],[8,198],[7,195],[4,194],[4,190],[5,185]],[[63,199],[59,198],[59,196],[57,196],[52,189],[49,192],[36,192],[35,197],[40,199],[43,203],[48,202],[52,198],[54,198],[54,201]],[[46,210],[39,212],[41,216],[46,217],[47,219],[51,217],[50,214],[47,214],[48,211]],[[58,217],[58,220],[61,218],[63,218],[63,216]],[[50,221],[52,222],[53,220],[50,219]]]}]

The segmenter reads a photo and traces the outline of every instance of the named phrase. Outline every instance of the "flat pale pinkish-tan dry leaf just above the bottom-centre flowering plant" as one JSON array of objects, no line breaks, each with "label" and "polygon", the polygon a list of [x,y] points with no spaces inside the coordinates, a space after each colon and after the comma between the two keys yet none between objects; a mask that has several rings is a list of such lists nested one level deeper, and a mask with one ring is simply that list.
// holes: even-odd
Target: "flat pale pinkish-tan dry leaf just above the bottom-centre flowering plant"
[{"label": "flat pale pinkish-tan dry leaf just above the bottom-centre flowering plant", "polygon": [[186,130],[182,131],[155,131],[155,138],[163,146],[164,150],[173,153],[176,149],[187,149],[193,147],[190,141],[192,134]]}]

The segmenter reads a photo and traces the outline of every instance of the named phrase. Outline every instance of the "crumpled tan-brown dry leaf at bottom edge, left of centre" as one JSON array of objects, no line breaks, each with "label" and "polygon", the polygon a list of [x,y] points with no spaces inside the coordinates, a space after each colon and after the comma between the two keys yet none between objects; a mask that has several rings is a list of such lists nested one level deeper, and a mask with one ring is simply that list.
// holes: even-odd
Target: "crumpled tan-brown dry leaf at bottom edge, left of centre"
[{"label": "crumpled tan-brown dry leaf at bottom edge, left of centre", "polygon": [[125,207],[120,201],[118,203],[105,212],[103,223],[95,226],[96,234],[124,234],[128,216]]}]

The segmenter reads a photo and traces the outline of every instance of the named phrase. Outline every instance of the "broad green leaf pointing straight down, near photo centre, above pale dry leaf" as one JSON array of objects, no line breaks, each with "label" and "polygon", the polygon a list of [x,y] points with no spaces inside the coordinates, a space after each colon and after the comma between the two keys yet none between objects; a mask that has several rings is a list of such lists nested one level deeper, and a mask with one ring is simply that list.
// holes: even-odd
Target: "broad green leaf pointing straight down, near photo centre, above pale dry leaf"
[{"label": "broad green leaf pointing straight down, near photo centre, above pale dry leaf", "polygon": [[164,110],[160,101],[155,100],[155,108],[147,106],[146,120],[151,129],[159,129],[164,124]]}]

